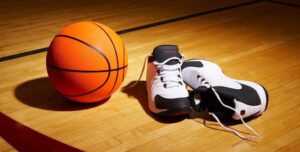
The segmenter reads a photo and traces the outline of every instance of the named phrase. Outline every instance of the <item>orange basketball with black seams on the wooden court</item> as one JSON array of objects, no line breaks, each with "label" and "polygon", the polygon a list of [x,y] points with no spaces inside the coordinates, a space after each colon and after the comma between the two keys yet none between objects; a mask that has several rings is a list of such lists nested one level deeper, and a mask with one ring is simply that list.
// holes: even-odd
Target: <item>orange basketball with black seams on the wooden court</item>
[{"label": "orange basketball with black seams on the wooden court", "polygon": [[106,99],[123,82],[127,52],[121,38],[96,22],[78,22],[55,36],[47,52],[47,72],[54,87],[73,101]]}]

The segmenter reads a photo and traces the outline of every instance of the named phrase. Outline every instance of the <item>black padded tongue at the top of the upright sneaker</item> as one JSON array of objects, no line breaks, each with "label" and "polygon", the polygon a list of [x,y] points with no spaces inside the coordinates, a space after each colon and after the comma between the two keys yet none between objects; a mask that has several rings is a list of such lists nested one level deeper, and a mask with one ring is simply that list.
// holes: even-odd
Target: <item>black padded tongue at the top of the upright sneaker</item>
[{"label": "black padded tongue at the top of the upright sneaker", "polygon": [[[154,48],[152,55],[153,59],[159,63],[162,63],[172,57],[181,58],[177,45],[159,45]],[[179,60],[174,59],[168,61],[166,64],[173,65],[177,63],[179,63]]]}]

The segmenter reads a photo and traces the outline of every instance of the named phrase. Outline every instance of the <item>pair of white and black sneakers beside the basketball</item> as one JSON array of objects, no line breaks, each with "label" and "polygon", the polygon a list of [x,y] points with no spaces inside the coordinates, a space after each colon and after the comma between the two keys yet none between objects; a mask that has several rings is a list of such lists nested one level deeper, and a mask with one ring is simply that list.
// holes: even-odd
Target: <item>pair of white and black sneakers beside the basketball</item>
[{"label": "pair of white and black sneakers beside the basketball", "polygon": [[[184,61],[176,45],[154,48],[148,57],[146,79],[149,109],[157,115],[189,114],[193,108],[208,111],[223,126],[219,118],[245,124],[243,118],[262,114],[268,105],[268,93],[263,86],[232,79],[207,60]],[[193,89],[190,93],[186,85]]]}]

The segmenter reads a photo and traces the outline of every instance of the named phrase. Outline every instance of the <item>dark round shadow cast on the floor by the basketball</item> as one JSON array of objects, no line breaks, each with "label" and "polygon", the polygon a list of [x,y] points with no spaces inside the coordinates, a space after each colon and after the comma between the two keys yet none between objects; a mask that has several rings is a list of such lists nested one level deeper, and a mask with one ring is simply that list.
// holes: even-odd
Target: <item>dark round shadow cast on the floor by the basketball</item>
[{"label": "dark round shadow cast on the floor by the basketball", "polygon": [[99,106],[109,100],[106,99],[88,104],[70,101],[53,88],[47,77],[33,79],[20,84],[15,89],[15,96],[26,105],[53,111],[83,110]]}]

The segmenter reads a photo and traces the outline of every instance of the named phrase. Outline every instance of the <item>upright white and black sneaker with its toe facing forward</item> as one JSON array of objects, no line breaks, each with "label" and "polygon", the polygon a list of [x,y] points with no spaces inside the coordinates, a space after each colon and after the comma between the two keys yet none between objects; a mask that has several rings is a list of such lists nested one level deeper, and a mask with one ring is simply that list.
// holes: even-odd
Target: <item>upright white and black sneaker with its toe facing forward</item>
[{"label": "upright white and black sneaker with its toe facing forward", "polygon": [[181,75],[183,57],[176,45],[160,45],[148,57],[149,109],[158,115],[189,114],[191,104]]}]

